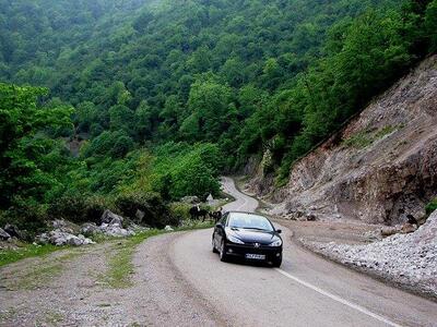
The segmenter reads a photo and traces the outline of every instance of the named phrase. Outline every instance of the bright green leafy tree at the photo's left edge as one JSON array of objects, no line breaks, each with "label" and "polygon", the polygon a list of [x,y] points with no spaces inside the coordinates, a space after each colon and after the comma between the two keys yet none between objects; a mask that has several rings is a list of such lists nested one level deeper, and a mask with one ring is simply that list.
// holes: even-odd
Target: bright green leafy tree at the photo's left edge
[{"label": "bright green leafy tree at the photo's left edge", "polygon": [[72,109],[38,106],[37,98],[46,95],[43,88],[0,83],[0,209],[19,199],[43,201],[57,183],[51,168],[61,159],[47,132],[71,125]]}]

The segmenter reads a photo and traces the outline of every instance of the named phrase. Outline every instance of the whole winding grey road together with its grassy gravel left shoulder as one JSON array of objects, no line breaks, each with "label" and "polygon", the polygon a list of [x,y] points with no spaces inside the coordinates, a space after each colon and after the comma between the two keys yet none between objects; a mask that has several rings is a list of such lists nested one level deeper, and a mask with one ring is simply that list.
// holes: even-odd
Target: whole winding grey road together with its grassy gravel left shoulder
[{"label": "whole winding grey road together with its grassy gravel left shoulder", "polygon": [[[257,208],[232,179],[222,184],[236,199],[226,210]],[[145,240],[118,287],[105,278],[122,242],[20,261],[0,268],[0,326],[437,326],[436,302],[326,261],[282,230],[281,268],[222,263],[211,229]]]}]

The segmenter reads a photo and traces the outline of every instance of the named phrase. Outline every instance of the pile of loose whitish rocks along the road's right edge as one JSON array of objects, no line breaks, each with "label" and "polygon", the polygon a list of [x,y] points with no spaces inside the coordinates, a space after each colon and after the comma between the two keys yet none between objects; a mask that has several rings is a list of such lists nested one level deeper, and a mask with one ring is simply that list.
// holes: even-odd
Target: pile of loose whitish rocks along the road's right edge
[{"label": "pile of loose whitish rocks along the road's right edge", "polygon": [[394,234],[366,245],[300,240],[331,259],[437,298],[437,211],[410,234]]}]

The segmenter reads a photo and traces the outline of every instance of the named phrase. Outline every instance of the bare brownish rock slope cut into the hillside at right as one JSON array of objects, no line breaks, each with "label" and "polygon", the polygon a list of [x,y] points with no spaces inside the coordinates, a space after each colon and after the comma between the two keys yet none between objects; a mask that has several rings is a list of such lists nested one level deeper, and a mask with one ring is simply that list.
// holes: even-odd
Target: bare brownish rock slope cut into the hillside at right
[{"label": "bare brownish rock slope cut into the hillside at right", "polygon": [[437,56],[296,162],[286,186],[262,183],[252,190],[270,192],[277,203],[272,214],[285,218],[421,219],[437,195]]}]

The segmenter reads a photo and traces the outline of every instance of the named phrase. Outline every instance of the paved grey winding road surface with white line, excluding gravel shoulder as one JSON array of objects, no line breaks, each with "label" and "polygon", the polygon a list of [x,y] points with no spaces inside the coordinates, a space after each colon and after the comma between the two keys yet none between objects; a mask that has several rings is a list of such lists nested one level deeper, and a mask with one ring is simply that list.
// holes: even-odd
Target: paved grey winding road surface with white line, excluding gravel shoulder
[{"label": "paved grey winding road surface with white line, excluding gravel shoulder", "polygon": [[[257,201],[229,178],[223,189],[236,202],[226,210],[252,211]],[[180,234],[168,257],[184,282],[228,326],[436,326],[437,303],[326,261],[293,244],[284,229],[280,269],[222,263],[211,252],[212,230]],[[211,323],[211,320],[210,320]]]}]

